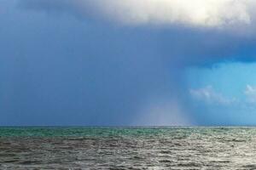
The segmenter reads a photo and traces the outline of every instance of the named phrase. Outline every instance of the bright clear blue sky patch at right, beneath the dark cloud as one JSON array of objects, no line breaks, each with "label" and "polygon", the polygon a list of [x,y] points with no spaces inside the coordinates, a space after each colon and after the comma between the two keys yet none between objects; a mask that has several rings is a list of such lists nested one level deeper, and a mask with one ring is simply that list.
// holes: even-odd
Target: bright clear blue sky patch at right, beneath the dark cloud
[{"label": "bright clear blue sky patch at right, beneath the dark cloud", "polygon": [[253,125],[256,110],[255,71],[253,63],[233,62],[187,70],[195,111],[199,115],[206,111],[210,113],[201,123]]}]

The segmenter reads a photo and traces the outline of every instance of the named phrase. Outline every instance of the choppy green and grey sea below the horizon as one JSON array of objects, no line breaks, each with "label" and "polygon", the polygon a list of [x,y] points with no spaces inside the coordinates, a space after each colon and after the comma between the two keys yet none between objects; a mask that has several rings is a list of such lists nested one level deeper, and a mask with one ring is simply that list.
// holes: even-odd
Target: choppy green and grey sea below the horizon
[{"label": "choppy green and grey sea below the horizon", "polygon": [[0,127],[0,169],[256,169],[256,127]]}]

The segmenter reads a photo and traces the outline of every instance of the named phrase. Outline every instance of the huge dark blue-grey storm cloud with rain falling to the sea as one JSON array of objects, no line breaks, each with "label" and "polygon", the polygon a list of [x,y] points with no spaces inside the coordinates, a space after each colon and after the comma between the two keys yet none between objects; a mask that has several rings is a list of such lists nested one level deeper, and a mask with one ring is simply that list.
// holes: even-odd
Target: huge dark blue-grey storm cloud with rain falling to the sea
[{"label": "huge dark blue-grey storm cloud with rain falling to the sea", "polygon": [[157,26],[166,19],[149,11],[152,22],[140,15],[112,23],[113,13],[102,16],[95,1],[18,2],[0,16],[1,112],[9,114],[2,124],[15,117],[16,124],[191,124],[183,71],[255,59],[250,32],[219,30],[221,22]]}]

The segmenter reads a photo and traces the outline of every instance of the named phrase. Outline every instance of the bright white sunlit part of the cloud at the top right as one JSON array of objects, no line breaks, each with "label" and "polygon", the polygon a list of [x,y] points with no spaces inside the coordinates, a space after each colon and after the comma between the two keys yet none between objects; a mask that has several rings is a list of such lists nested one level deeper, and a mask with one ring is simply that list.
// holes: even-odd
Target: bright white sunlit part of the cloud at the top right
[{"label": "bright white sunlit part of the cloud at the top right", "polygon": [[250,24],[252,0],[97,0],[94,7],[125,24],[225,26]]}]

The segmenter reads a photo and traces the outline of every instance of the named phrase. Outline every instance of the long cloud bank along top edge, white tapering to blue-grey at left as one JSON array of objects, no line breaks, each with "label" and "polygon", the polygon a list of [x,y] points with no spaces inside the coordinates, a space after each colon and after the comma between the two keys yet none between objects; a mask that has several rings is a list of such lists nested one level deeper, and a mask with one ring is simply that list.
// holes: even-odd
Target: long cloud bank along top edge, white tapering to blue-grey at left
[{"label": "long cloud bank along top edge, white tapering to blue-grey at left", "polygon": [[125,25],[224,27],[250,25],[253,0],[25,0],[28,8],[98,15]]}]

